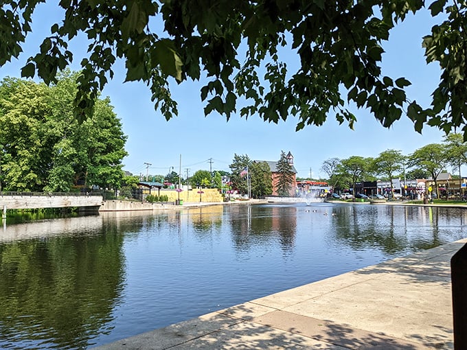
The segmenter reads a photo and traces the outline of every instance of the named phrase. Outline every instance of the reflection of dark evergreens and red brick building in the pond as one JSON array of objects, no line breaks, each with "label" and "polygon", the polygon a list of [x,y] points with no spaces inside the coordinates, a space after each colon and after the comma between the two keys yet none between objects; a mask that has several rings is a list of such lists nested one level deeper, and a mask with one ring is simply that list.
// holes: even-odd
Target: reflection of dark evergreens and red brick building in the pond
[{"label": "reflection of dark evergreens and red brick building in the pond", "polygon": [[275,246],[290,253],[295,247],[297,207],[275,205],[241,205],[231,215],[231,232],[237,250],[253,246]]}]

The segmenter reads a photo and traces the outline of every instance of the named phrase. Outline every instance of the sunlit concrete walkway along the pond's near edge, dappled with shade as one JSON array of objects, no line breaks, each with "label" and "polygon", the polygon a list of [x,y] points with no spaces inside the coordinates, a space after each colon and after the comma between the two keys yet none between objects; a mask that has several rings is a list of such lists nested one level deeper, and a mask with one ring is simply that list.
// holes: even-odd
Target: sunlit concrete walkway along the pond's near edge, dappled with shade
[{"label": "sunlit concrete walkway along the pond's near edge, dappled with shade", "polygon": [[98,349],[453,349],[450,259],[467,240]]}]

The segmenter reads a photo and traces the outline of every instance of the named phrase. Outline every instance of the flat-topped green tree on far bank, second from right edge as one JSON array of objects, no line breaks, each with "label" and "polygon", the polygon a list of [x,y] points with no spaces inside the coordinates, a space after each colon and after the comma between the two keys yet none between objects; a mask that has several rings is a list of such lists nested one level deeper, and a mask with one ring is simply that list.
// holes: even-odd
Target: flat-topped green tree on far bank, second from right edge
[{"label": "flat-topped green tree on far bank, second from right edge", "polygon": [[446,155],[446,148],[440,143],[430,143],[418,148],[409,155],[409,165],[411,167],[420,167],[421,169],[429,172],[431,178],[435,182],[435,192],[437,198],[440,198],[440,191],[437,185],[437,177],[445,170],[448,165],[448,156]]}]

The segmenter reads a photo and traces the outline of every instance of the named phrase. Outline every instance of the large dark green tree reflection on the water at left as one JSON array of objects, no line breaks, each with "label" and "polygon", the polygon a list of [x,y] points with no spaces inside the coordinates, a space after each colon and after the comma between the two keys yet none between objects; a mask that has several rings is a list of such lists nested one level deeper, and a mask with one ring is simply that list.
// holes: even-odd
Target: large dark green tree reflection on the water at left
[{"label": "large dark green tree reflection on the water at left", "polygon": [[105,333],[124,281],[122,242],[104,224],[100,235],[0,244],[0,347],[85,348]]}]

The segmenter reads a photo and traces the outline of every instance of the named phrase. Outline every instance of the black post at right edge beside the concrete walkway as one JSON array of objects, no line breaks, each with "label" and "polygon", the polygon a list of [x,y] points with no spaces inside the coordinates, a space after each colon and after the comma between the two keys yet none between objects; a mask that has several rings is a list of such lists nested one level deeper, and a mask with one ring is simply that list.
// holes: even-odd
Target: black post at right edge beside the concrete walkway
[{"label": "black post at right edge beside the concrete walkway", "polygon": [[451,258],[454,349],[467,349],[467,244]]}]

